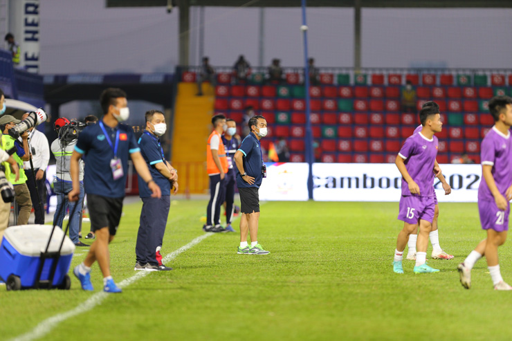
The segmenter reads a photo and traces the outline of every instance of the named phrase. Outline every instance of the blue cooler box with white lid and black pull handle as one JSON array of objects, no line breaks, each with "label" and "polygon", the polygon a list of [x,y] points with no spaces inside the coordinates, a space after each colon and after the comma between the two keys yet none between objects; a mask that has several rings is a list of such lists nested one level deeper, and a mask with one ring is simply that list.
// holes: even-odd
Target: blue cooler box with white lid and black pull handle
[{"label": "blue cooler box with white lid and black pull handle", "polygon": [[[4,282],[10,275],[16,275],[21,279],[22,287],[35,286],[37,270],[41,263],[41,252],[46,250],[52,228],[52,225],[18,225],[7,228],[0,245],[0,277]],[[58,227],[55,228],[48,252],[59,250],[62,237],[64,232]],[[71,265],[74,251],[75,244],[69,237],[64,237],[53,276],[53,286],[62,284]],[[42,280],[49,279],[53,261],[54,259],[44,261]]]}]

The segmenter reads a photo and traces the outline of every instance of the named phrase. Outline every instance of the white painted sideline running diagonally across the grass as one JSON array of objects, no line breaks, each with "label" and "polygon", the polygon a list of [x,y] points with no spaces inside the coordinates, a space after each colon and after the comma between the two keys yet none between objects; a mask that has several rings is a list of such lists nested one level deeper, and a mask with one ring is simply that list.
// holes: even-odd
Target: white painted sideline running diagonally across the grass
[{"label": "white painted sideline running diagonally across the grass", "polygon": [[[213,232],[208,232],[203,234],[200,237],[197,237],[196,239],[193,239],[190,243],[188,243],[185,246],[182,246],[176,251],[171,252],[167,256],[162,259],[162,263],[167,263],[168,261],[172,261],[172,259],[176,258],[180,253],[185,252],[186,250],[192,248],[192,246],[195,246],[203,239],[210,237],[213,234]],[[138,271],[135,275],[125,279],[124,281],[120,282],[118,286],[120,288],[125,288],[129,286],[130,284],[136,282],[138,279],[141,279],[149,273],[152,273],[150,271]],[[42,338],[44,335],[49,333],[57,324],[60,324],[60,322],[64,322],[70,317],[79,315],[81,313],[85,313],[86,311],[90,311],[92,308],[103,302],[105,298],[107,298],[109,295],[115,295],[115,294],[109,294],[104,293],[103,291],[100,291],[99,293],[95,293],[89,299],[87,299],[84,303],[78,305],[76,308],[71,309],[70,311],[66,311],[65,313],[57,314],[52,317],[48,317],[46,320],[40,322],[35,326],[35,328],[32,331],[29,331],[28,333],[25,333],[23,335],[19,335],[16,338],[13,338],[12,341],[28,341],[28,340],[35,340],[38,338]],[[122,294],[121,294],[122,295]]]}]

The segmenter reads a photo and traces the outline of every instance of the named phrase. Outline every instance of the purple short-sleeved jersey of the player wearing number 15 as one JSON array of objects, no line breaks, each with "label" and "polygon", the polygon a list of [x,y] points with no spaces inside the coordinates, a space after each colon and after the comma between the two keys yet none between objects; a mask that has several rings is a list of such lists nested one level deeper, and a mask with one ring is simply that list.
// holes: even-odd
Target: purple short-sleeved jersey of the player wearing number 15
[{"label": "purple short-sleeved jersey of the player wearing number 15", "polygon": [[402,178],[402,195],[434,196],[434,163],[437,156],[437,137],[428,139],[421,133],[410,136],[400,149],[399,156],[405,159],[405,168],[419,186],[419,195],[411,194],[407,182]]}]

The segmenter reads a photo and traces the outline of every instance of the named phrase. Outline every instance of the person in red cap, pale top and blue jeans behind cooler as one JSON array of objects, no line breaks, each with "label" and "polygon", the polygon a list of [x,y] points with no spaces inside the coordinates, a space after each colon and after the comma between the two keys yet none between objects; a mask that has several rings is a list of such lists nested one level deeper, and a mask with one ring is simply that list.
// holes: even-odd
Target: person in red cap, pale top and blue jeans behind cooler
[{"label": "person in red cap, pale top and blue jeans behind cooler", "polygon": [[[53,191],[57,195],[57,208],[53,216],[53,225],[62,228],[64,216],[69,207],[69,238],[75,246],[89,246],[78,239],[78,230],[80,228],[80,214],[82,214],[82,201],[84,200],[84,161],[80,160],[78,180],[80,181],[80,195],[78,201],[69,202],[68,193],[73,190],[73,180],[69,173],[71,165],[71,155],[75,149],[78,138],[78,131],[73,122],[67,118],[57,118],[55,120],[55,132],[57,138],[52,142],[51,151],[55,156],[55,165],[57,172],[53,181]],[[76,206],[76,208],[75,208]]]}]

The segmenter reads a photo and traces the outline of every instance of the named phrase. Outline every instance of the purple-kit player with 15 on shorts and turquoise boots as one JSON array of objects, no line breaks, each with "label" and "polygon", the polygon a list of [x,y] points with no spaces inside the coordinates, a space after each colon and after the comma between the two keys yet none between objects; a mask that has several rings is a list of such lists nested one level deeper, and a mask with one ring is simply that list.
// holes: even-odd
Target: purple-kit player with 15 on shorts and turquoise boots
[{"label": "purple-kit player with 15 on shorts and turquoise boots", "polygon": [[441,169],[435,167],[438,142],[435,133],[443,127],[439,110],[435,107],[425,107],[419,112],[423,128],[419,133],[410,136],[396,156],[396,167],[402,174],[402,196],[398,219],[403,221],[403,229],[396,239],[394,250],[393,270],[403,273],[403,250],[409,236],[419,226],[416,248],[416,266],[414,273],[437,273],[426,263],[428,234],[432,230],[434,219],[434,177],[432,172],[439,175]]}]

